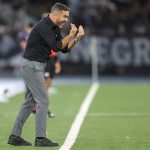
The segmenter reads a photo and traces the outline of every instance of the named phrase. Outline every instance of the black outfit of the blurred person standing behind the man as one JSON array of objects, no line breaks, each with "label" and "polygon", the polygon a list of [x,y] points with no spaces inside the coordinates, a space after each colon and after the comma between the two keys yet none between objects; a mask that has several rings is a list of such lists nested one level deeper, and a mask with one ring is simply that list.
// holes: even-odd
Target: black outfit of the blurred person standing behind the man
[{"label": "black outfit of the blurred person standing behind the man", "polygon": [[46,63],[46,68],[45,68],[45,77],[50,77],[51,79],[54,78],[55,76],[55,63],[58,61],[58,57],[51,58],[47,63]]}]

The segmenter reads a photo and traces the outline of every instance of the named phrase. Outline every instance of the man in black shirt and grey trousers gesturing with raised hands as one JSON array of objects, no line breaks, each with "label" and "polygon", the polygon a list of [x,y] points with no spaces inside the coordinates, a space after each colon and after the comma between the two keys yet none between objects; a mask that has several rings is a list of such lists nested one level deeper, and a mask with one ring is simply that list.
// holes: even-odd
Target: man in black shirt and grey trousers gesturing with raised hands
[{"label": "man in black shirt and grey trousers gesturing with raised hands", "polygon": [[44,80],[44,68],[49,59],[50,49],[55,52],[69,52],[84,35],[82,26],[77,29],[74,24],[71,24],[69,34],[62,38],[60,28],[68,21],[68,17],[69,8],[56,3],[52,7],[49,16],[37,23],[29,35],[22,62],[22,75],[27,87],[25,100],[9,136],[8,144],[31,146],[30,142],[21,138],[21,133],[22,127],[31,114],[36,101],[38,108],[35,116],[35,146],[58,146],[58,143],[46,138],[49,100]]}]

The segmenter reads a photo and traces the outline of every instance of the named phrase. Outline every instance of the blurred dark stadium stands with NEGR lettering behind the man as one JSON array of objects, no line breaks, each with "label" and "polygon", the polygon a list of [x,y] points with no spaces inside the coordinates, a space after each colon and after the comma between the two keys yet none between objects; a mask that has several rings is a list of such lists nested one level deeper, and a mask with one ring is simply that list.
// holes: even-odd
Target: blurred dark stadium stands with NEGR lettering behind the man
[{"label": "blurred dark stadium stands with NEGR lettering behind the man", "polygon": [[59,54],[59,76],[149,77],[149,0],[0,0],[1,77],[20,76],[18,35],[56,2],[68,5],[70,22],[86,31],[71,53]]}]

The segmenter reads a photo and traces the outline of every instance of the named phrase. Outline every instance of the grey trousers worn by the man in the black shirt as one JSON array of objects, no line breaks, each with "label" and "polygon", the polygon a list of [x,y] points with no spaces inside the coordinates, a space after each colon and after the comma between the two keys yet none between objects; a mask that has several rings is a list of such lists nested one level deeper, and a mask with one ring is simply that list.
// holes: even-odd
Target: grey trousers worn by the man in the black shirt
[{"label": "grey trousers worn by the man in the black shirt", "polygon": [[[23,59],[22,76],[26,84],[25,99],[15,121],[12,134],[21,136],[22,128],[36,102],[35,137],[46,137],[46,122],[49,99],[44,79],[45,63]],[[19,88],[19,87],[18,87]]]}]

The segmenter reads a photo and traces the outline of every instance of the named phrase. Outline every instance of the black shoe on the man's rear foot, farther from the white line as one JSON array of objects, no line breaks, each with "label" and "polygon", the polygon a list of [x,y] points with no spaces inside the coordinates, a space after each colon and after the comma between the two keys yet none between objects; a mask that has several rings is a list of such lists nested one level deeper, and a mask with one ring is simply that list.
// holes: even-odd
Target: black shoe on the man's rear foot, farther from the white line
[{"label": "black shoe on the man's rear foot, farther from the white line", "polygon": [[25,141],[20,136],[15,136],[15,135],[10,135],[9,136],[7,144],[15,145],[15,146],[32,146],[31,143]]}]

